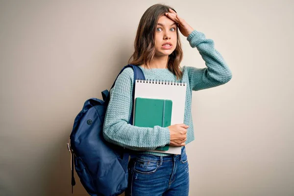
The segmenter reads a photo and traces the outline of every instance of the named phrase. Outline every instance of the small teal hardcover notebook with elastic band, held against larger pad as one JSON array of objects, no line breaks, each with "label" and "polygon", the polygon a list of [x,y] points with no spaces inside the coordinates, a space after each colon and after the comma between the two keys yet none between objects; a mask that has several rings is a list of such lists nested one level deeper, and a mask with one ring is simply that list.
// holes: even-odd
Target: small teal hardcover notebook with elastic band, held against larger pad
[{"label": "small teal hardcover notebook with elastic band, held against larger pad", "polygon": [[[136,98],[134,125],[140,127],[167,127],[172,121],[172,100],[156,98]],[[169,145],[156,150],[168,150]]]}]

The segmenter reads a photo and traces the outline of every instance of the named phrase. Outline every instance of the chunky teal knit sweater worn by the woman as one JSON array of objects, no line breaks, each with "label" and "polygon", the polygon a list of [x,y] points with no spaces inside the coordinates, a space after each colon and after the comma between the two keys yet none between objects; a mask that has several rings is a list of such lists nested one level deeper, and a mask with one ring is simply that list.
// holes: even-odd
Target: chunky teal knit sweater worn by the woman
[{"label": "chunky teal knit sweater worn by the woman", "polygon": [[[189,125],[187,129],[186,144],[194,140],[194,127],[191,113],[192,91],[208,89],[228,82],[232,73],[221,54],[214,48],[214,41],[206,39],[204,33],[194,30],[187,40],[192,48],[197,48],[206,68],[183,66],[182,80],[169,69],[143,70],[146,79],[168,80],[186,82],[186,104],[184,123]],[[138,127],[129,124],[132,110],[132,90],[134,72],[132,68],[126,68],[118,76],[114,87],[110,90],[110,101],[105,114],[103,136],[106,141],[116,145],[136,150],[137,153],[148,153],[159,156],[167,156],[167,153],[157,153],[145,150],[155,149],[170,144],[170,130],[168,127],[154,126]]]}]

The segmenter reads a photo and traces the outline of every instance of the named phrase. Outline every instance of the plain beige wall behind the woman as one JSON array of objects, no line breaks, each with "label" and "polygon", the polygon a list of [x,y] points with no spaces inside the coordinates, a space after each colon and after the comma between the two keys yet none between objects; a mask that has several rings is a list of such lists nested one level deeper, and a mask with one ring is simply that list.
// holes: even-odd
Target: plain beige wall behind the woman
[{"label": "plain beige wall behind the woman", "polygon": [[[233,73],[193,92],[190,195],[294,195],[293,1],[1,0],[1,196],[71,196],[73,120],[111,87],[158,2],[213,39]],[[181,40],[181,66],[205,67]]]}]

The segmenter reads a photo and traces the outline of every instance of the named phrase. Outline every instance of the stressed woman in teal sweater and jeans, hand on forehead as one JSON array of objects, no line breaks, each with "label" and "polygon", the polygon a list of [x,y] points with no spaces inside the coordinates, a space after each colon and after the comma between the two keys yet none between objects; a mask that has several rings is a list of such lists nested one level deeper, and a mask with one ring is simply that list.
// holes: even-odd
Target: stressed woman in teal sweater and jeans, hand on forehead
[{"label": "stressed woman in teal sweater and jeans, hand on forehead", "polygon": [[[197,48],[207,68],[180,67],[183,57],[180,32]],[[185,145],[194,140],[191,114],[192,91],[228,82],[232,73],[214,41],[194,30],[167,5],[155,4],[143,14],[129,64],[137,65],[146,79],[186,82],[183,124],[137,127],[128,123],[132,110],[133,70],[126,68],[110,91],[103,136],[111,143],[136,150],[128,164],[126,196],[188,196],[189,164]],[[131,59],[130,58],[130,59]],[[180,155],[150,152],[165,145],[182,147]]]}]

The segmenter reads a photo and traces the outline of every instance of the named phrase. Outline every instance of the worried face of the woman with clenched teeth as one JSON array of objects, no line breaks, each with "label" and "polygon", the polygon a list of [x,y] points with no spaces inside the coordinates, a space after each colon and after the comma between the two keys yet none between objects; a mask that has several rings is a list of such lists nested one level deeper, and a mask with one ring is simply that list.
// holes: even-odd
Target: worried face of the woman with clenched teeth
[{"label": "worried face of the woman with clenched teeth", "polygon": [[[161,16],[155,28],[155,50],[156,56],[164,56],[172,54],[176,47],[176,23],[167,16]],[[166,46],[165,43],[169,42],[171,46]]]}]

